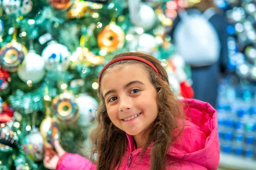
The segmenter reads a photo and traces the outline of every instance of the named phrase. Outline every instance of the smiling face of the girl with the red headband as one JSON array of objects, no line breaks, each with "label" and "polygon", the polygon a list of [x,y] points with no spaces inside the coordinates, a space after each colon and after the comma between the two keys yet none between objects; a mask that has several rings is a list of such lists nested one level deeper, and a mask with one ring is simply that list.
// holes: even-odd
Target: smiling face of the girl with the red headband
[{"label": "smiling face of the girl with the red headband", "polygon": [[157,118],[157,91],[141,64],[108,68],[101,91],[109,118],[129,135],[141,136]]}]

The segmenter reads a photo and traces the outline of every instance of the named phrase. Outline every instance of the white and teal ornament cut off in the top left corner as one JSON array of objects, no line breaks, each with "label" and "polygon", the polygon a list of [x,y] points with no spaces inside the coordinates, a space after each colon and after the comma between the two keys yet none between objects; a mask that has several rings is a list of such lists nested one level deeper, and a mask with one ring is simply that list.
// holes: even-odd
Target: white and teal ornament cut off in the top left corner
[{"label": "white and teal ornament cut off in the top left corner", "polygon": [[6,14],[18,14],[20,10],[20,0],[3,0],[3,10]]}]

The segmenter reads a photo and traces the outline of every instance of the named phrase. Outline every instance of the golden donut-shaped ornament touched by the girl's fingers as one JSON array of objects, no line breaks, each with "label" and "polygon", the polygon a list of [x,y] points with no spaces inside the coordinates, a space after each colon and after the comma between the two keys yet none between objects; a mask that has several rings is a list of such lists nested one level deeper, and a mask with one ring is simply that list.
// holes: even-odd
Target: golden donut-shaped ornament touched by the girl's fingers
[{"label": "golden donut-shaped ornament touched by the girl's fingers", "polygon": [[60,138],[58,124],[55,119],[49,115],[41,122],[40,133],[44,141],[44,146],[47,148],[54,147],[54,140]]}]

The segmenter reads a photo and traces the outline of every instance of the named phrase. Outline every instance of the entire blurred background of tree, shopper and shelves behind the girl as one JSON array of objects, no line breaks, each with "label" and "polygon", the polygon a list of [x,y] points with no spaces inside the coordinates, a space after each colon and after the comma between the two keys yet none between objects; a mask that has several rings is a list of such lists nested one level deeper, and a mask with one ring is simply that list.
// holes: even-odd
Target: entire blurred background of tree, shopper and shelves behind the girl
[{"label": "entire blurred background of tree, shopper and shelves behind the girl", "polygon": [[0,0],[0,170],[88,156],[98,75],[143,51],[179,98],[218,111],[220,170],[256,169],[255,0]]}]

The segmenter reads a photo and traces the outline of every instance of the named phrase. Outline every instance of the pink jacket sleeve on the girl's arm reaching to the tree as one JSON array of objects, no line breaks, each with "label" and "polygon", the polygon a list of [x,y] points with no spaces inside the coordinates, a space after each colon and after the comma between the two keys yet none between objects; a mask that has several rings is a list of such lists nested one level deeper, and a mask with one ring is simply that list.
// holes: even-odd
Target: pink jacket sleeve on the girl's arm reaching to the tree
[{"label": "pink jacket sleeve on the girl's arm reaching to the tree", "polygon": [[56,170],[96,170],[96,165],[77,153],[67,153],[60,158]]}]

